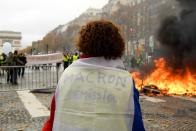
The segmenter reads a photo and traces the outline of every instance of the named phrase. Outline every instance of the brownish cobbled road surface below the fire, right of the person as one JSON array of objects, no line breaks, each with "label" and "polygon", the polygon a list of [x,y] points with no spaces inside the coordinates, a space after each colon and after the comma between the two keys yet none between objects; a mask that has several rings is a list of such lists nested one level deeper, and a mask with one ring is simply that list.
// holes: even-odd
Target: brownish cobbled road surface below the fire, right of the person
[{"label": "brownish cobbled road surface below the fire, right of the person", "polygon": [[[149,98],[149,97],[148,97]],[[156,99],[164,102],[156,102]],[[196,98],[140,98],[145,127],[149,131],[196,131]],[[159,100],[158,100],[159,101]]]}]

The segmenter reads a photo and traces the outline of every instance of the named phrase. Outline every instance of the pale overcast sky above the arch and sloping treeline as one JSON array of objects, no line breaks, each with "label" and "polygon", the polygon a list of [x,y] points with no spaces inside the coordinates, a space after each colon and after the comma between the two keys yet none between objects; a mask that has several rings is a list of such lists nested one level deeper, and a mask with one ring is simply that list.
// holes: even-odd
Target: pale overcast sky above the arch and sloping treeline
[{"label": "pale overcast sky above the arch and sloping treeline", "polygon": [[108,0],[0,0],[0,30],[22,32],[22,46],[41,39],[89,7],[101,8]]}]

